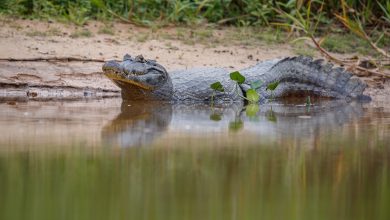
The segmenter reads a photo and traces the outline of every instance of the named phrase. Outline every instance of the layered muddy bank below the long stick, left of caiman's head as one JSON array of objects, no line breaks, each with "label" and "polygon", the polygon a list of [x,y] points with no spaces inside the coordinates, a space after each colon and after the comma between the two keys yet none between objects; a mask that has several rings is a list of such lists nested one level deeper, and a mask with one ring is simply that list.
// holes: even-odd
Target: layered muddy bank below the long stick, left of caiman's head
[{"label": "layered muddy bank below the long stick, left of caiman's head", "polygon": [[72,100],[119,97],[100,63],[0,62],[0,99]]}]

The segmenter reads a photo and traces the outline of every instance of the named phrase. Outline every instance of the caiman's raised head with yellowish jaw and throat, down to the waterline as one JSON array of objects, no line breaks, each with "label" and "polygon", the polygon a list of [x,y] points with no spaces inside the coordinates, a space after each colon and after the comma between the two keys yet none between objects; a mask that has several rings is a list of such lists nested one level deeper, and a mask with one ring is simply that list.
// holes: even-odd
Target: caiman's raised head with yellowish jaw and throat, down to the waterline
[{"label": "caiman's raised head with yellowish jaw and throat, down to the waterline", "polygon": [[122,62],[108,61],[103,72],[122,89],[126,100],[167,100],[172,95],[172,83],[165,68],[154,60],[126,54]]}]

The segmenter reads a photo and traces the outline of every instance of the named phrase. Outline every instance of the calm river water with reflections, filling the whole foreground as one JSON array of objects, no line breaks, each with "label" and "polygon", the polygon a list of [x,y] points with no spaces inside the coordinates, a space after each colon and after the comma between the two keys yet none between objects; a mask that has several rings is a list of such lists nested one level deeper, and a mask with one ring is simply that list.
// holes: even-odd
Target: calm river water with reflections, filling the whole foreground
[{"label": "calm river water with reflections, filling the whole foreground", "polygon": [[1,219],[390,219],[390,109],[0,104]]}]

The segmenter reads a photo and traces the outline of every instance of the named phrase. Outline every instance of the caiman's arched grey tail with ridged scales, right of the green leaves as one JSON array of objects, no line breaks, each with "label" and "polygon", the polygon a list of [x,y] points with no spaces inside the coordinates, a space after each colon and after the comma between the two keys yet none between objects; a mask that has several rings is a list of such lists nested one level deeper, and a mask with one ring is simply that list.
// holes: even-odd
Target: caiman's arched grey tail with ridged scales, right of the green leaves
[{"label": "caiman's arched grey tail with ridged scales, right of the green leaves", "polygon": [[282,59],[260,76],[263,86],[258,92],[264,98],[270,98],[267,85],[279,82],[273,94],[276,98],[300,94],[370,100],[370,97],[363,95],[367,85],[361,79],[353,77],[344,68],[333,68],[331,63],[322,63],[322,59],[313,61],[304,56]]}]

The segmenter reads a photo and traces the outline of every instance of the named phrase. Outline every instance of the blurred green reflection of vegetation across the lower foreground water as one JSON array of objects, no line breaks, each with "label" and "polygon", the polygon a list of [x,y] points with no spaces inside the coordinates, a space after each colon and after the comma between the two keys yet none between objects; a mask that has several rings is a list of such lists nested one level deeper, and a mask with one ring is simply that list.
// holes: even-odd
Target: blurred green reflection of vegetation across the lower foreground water
[{"label": "blurred green reflection of vegetation across the lower foreground water", "polygon": [[387,220],[390,150],[359,142],[2,154],[0,218]]}]

